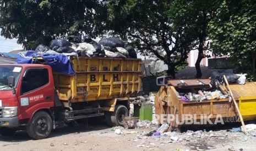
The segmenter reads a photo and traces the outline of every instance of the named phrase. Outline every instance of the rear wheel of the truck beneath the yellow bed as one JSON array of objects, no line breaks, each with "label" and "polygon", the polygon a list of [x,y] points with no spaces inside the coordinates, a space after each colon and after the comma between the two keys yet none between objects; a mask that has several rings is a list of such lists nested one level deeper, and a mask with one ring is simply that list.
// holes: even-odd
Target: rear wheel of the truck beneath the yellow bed
[{"label": "rear wheel of the truck beneath the yellow bed", "polygon": [[111,123],[113,126],[123,126],[123,117],[127,117],[129,114],[126,106],[118,104],[115,107],[115,111],[111,115]]}]

